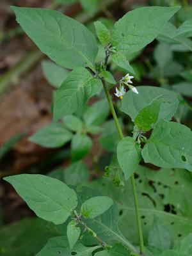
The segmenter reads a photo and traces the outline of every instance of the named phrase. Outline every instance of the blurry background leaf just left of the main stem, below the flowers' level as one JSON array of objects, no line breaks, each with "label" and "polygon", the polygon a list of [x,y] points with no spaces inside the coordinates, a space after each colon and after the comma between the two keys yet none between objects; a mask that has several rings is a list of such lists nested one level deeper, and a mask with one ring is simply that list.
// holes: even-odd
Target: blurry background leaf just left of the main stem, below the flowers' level
[{"label": "blurry background leaf just left of the main stem, below the flowers' level", "polygon": [[109,115],[108,100],[102,99],[93,103],[83,114],[83,120],[86,127],[90,125],[100,125]]}]

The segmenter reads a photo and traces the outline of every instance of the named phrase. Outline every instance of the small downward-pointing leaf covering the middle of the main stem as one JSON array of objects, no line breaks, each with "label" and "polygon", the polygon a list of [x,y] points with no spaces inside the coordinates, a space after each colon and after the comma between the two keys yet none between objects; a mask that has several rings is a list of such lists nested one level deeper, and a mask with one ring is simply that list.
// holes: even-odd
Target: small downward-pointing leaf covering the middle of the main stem
[{"label": "small downward-pointing leaf covering the middle of the main stem", "polygon": [[124,172],[125,180],[134,173],[141,161],[141,148],[131,137],[123,138],[117,146],[117,159]]}]

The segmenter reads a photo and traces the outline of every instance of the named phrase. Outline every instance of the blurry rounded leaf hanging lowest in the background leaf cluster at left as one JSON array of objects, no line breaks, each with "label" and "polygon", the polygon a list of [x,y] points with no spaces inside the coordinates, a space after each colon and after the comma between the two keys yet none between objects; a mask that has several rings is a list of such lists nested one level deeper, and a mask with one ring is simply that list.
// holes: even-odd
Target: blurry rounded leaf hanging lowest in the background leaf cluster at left
[{"label": "blurry rounded leaf hanging lowest in the background leaf cluster at left", "polygon": [[92,140],[85,134],[76,134],[71,143],[71,159],[77,161],[90,152]]}]

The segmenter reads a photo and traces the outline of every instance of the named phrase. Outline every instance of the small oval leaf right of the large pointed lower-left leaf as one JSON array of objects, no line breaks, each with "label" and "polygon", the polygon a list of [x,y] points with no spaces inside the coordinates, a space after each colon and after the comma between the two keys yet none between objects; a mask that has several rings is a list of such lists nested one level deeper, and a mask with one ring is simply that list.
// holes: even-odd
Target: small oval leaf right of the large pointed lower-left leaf
[{"label": "small oval leaf right of the large pointed lower-left leaf", "polygon": [[84,218],[95,218],[108,211],[112,204],[113,200],[108,196],[95,196],[81,205],[81,214]]}]

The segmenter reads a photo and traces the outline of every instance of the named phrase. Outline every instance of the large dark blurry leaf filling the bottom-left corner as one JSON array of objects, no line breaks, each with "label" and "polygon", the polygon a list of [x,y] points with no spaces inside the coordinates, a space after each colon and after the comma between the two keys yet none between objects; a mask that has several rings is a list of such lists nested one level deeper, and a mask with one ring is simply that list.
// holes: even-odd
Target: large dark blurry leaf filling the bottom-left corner
[{"label": "large dark blurry leaf filling the bottom-left corner", "polygon": [[61,236],[51,222],[40,218],[24,220],[6,225],[0,230],[1,256],[36,255],[50,237]]}]

